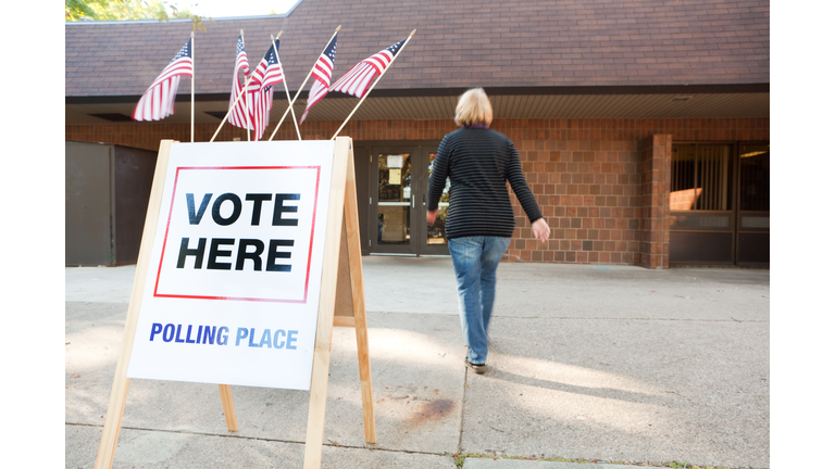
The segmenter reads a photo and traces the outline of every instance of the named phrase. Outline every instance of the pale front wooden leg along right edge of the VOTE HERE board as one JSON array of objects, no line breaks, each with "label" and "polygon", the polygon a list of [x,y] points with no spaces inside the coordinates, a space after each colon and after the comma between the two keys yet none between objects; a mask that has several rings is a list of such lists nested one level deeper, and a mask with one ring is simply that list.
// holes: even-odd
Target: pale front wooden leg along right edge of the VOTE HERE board
[{"label": "pale front wooden leg along right edge of the VOTE HERE board", "polygon": [[322,440],[325,433],[325,405],[327,404],[327,373],[331,369],[331,341],[334,331],[336,282],[339,269],[339,244],[345,206],[346,169],[350,138],[336,139],[331,197],[327,210],[322,290],[319,295],[316,344],[313,351],[313,372],[310,382],[308,434],[304,440],[304,469],[319,469],[322,465]]}]

